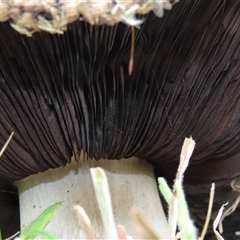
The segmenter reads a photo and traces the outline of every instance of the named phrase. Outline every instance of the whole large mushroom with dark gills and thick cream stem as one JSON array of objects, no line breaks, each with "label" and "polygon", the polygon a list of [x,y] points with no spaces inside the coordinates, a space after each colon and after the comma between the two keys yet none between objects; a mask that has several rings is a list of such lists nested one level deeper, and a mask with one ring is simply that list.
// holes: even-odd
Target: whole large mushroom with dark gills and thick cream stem
[{"label": "whole large mushroom with dark gills and thick cream stem", "polygon": [[[88,168],[103,165],[109,177],[114,175],[110,183],[113,198],[120,199],[113,201],[118,212],[139,204],[149,221],[159,226],[157,219],[163,217],[153,169],[157,176],[173,181],[183,139],[189,135],[197,143],[185,178],[193,216],[199,224],[205,217],[213,181],[217,186],[216,209],[217,204],[234,200],[238,193],[231,191],[230,183],[240,175],[240,3],[182,0],[165,11],[163,18],[149,13],[135,29],[131,75],[129,26],[93,26],[72,17],[63,32],[66,22],[55,22],[54,9],[50,9],[38,12],[36,8],[39,14],[35,12],[35,21],[25,28],[24,21],[18,21],[19,8],[7,15],[15,29],[32,37],[19,34],[9,22],[0,24],[0,143],[15,132],[0,161],[0,179],[3,183],[22,179],[17,185],[24,215],[37,215],[40,207],[58,196],[55,190],[60,196],[52,201],[69,199],[73,189],[78,189],[73,203],[84,205],[90,217],[97,215],[97,210],[91,212],[94,199],[88,195]],[[128,21],[129,12],[120,20]],[[83,15],[83,19],[92,18]],[[98,16],[90,23],[102,23],[103,19]],[[72,161],[70,165],[72,155],[81,159],[80,164]],[[88,158],[119,160],[86,161]],[[123,158],[132,159],[120,160]],[[138,163],[137,169],[133,163]],[[69,170],[76,165],[81,167]],[[114,172],[116,169],[121,174]],[[68,185],[56,187],[56,181],[65,179],[65,172],[73,178]],[[129,177],[124,184],[119,183],[122,176]],[[147,180],[149,185],[145,185]],[[50,190],[44,195],[33,192],[38,188],[45,191],[48,185]],[[122,200],[130,195],[137,202],[129,200],[126,204]],[[129,223],[132,234],[128,214],[121,213],[116,213],[116,222]],[[56,221],[62,222],[64,214]],[[28,219],[23,220],[24,215],[22,225],[34,218],[26,216]],[[101,225],[94,219],[103,237]],[[60,223],[56,224],[58,227],[52,227],[56,235],[76,237],[65,235]],[[167,234],[164,226],[163,237]],[[75,230],[71,230],[73,234],[81,234]]]}]

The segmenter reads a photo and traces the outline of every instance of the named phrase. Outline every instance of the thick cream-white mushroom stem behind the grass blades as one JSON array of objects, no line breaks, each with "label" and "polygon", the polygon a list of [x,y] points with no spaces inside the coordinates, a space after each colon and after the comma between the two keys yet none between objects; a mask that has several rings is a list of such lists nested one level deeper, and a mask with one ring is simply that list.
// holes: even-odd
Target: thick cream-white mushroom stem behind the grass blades
[{"label": "thick cream-white mushroom stem behind the grass blades", "polygon": [[116,225],[122,224],[127,234],[136,238],[129,216],[135,206],[144,217],[167,236],[164,215],[152,166],[146,161],[131,158],[122,160],[72,161],[65,167],[48,170],[16,182],[19,189],[21,228],[29,224],[48,206],[64,201],[46,230],[61,239],[84,239],[73,205],[81,205],[87,212],[96,234],[104,239],[104,229],[95,199],[90,176],[91,167],[102,167],[106,172],[112,197]]}]

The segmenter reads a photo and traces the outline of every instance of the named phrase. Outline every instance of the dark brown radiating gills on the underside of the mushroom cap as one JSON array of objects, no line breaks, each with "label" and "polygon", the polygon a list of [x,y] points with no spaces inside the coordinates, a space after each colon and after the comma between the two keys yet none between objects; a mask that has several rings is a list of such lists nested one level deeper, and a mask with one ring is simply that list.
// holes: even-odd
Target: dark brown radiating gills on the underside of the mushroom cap
[{"label": "dark brown radiating gills on the underside of the mushroom cap", "polygon": [[135,29],[131,76],[131,29],[122,23],[76,21],[63,35],[31,38],[1,23],[0,143],[15,135],[0,179],[63,166],[80,150],[137,156],[170,176],[189,135],[191,165],[237,154],[238,19],[238,1],[182,1],[162,19],[150,13]]}]

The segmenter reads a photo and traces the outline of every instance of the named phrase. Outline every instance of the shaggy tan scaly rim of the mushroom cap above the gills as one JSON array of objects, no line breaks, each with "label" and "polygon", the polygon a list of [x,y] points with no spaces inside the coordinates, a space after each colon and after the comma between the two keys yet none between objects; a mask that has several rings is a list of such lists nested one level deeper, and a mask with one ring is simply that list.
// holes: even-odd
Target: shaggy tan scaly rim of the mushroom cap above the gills
[{"label": "shaggy tan scaly rim of the mushroom cap above the gills", "polygon": [[0,0],[0,22],[10,20],[13,28],[28,36],[37,31],[63,33],[67,24],[77,20],[139,25],[136,14],[153,10],[162,17],[172,4],[171,0]]}]

